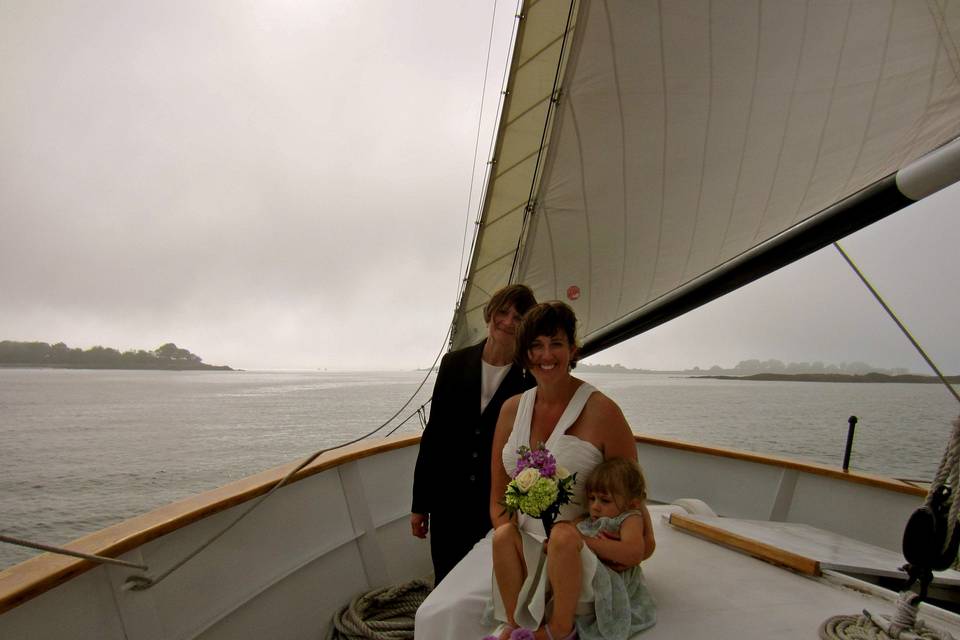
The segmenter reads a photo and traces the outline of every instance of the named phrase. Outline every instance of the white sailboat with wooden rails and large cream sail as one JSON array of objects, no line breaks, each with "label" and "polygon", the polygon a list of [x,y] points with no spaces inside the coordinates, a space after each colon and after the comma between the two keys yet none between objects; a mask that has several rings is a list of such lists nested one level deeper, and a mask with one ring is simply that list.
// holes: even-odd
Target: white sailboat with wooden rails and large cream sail
[{"label": "white sailboat with wooden rails and large cream sail", "polygon": [[[567,301],[597,353],[960,178],[956,2],[529,0],[516,24],[452,347],[523,282]],[[893,609],[924,487],[636,440],[663,505],[646,637],[812,637]],[[222,537],[294,465],[68,545],[135,566],[0,572],[0,637],[320,637],[356,594],[429,573],[407,523],[418,442],[324,454]],[[958,577],[931,589],[949,600]]]}]

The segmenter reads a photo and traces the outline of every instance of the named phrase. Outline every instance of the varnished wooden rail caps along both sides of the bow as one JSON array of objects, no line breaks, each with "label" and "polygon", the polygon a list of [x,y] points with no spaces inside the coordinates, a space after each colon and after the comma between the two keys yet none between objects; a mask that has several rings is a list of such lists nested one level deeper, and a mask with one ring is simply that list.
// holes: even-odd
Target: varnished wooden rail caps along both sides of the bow
[{"label": "varnished wooden rail caps along both sides of the bow", "polygon": [[[813,462],[800,462],[774,455],[639,434],[634,434],[634,440],[643,445],[794,469],[897,493],[926,495],[923,488],[900,480],[842,471]],[[418,444],[419,441],[419,435],[392,436],[374,443],[361,442],[336,452],[328,452],[294,474],[288,484],[348,462],[406,448]],[[66,546],[72,550],[107,557],[123,555],[166,534],[267,493],[298,464],[299,462],[293,462],[274,467],[222,487],[172,502],[78,538]],[[89,560],[43,553],[0,571],[0,615],[96,567],[97,564]]]}]

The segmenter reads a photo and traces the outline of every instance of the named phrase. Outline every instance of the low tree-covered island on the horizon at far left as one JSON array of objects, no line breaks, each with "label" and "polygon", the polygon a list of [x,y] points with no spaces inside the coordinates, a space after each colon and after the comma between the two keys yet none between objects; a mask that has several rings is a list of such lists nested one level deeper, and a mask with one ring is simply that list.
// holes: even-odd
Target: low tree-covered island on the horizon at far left
[{"label": "low tree-covered island on the horizon at far left", "polygon": [[0,367],[58,369],[162,369],[166,371],[233,371],[226,365],[205,364],[200,356],[168,342],[154,349],[120,352],[110,347],[71,349],[62,342],[0,341]]}]

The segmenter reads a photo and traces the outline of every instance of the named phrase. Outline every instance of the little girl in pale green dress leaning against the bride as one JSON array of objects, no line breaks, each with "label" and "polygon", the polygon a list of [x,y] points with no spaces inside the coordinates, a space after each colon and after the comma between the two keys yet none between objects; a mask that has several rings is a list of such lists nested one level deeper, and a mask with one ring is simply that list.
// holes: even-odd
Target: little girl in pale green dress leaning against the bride
[{"label": "little girl in pale green dress leaning against the bride", "polygon": [[577,632],[582,640],[626,640],[657,621],[640,571],[656,546],[643,471],[633,460],[605,460],[587,477],[586,495],[589,516],[577,529],[604,566],[593,577],[594,613],[577,617]]}]

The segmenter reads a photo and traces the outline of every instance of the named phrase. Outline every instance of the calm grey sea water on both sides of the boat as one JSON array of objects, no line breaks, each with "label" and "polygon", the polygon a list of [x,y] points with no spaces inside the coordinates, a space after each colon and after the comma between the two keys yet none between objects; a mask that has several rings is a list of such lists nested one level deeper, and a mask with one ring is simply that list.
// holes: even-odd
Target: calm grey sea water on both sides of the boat
[{"label": "calm grey sea water on both sides of the boat", "polygon": [[[424,375],[0,369],[0,532],[64,544],[301,460],[376,429]],[[637,433],[838,467],[857,415],[851,467],[911,479],[932,477],[958,413],[938,385],[582,377]],[[397,433],[420,428],[413,417]],[[0,568],[34,553],[0,543]]]}]

